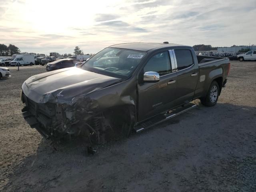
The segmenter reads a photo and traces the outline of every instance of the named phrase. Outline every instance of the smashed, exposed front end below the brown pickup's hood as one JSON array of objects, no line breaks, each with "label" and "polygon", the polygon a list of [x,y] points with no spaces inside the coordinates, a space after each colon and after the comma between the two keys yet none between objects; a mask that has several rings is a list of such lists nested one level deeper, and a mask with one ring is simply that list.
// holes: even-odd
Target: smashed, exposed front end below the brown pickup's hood
[{"label": "smashed, exposed front end below the brown pickup's hood", "polygon": [[[22,109],[22,115],[31,128],[50,140],[84,136],[93,143],[104,143],[106,133],[113,131],[112,117],[117,117],[114,110],[97,112],[96,100],[85,98],[78,100],[74,105],[58,103],[36,103],[23,92],[22,102],[26,106]],[[114,120],[115,126],[122,124]],[[121,125],[122,126],[122,125]]]}]

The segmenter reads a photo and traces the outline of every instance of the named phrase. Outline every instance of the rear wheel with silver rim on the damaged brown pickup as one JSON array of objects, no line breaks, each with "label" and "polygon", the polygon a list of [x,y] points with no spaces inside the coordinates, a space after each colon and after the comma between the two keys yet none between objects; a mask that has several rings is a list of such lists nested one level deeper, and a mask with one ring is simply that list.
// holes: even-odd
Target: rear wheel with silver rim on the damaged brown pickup
[{"label": "rear wheel with silver rim on the damaged brown pickup", "polygon": [[201,99],[201,103],[208,107],[214,106],[218,101],[219,94],[219,84],[216,81],[213,81],[212,84],[210,85],[206,97]]}]

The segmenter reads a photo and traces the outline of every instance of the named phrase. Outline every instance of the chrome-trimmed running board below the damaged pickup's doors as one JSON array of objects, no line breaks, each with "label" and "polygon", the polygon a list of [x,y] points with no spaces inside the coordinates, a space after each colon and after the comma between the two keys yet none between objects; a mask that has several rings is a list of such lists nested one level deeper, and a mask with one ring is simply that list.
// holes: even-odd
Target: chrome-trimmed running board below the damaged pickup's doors
[{"label": "chrome-trimmed running board below the damaged pickup's doors", "polygon": [[157,115],[154,118],[152,118],[152,119],[150,119],[146,122],[143,122],[141,124],[136,125],[134,127],[134,130],[135,130],[136,133],[138,133],[138,132],[140,132],[140,131],[142,131],[146,128],[150,128],[150,127],[155,126],[157,124],[160,124],[160,123],[162,123],[166,120],[174,118],[177,115],[180,115],[184,112],[187,112],[188,110],[193,109],[195,107],[196,107],[195,104],[189,103],[184,107],[178,107],[176,109],[170,110],[170,111],[166,112],[165,114]]}]

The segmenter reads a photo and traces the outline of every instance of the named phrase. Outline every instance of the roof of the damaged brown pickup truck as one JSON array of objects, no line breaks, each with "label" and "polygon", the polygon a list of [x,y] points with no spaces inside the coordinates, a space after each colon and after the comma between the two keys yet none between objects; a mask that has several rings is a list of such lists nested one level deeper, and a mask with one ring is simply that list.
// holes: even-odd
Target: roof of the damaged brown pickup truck
[{"label": "roof of the damaged brown pickup truck", "polygon": [[172,43],[122,43],[116,44],[109,47],[114,48],[124,48],[138,51],[149,51],[155,48],[164,48],[164,47],[176,47],[176,46],[185,46],[180,44],[172,44]]}]

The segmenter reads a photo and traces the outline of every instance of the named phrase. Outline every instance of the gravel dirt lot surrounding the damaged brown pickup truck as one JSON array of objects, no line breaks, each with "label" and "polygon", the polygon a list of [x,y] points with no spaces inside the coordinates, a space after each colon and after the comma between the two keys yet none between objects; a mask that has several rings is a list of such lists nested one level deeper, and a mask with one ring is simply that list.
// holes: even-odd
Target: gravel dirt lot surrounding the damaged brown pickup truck
[{"label": "gravel dirt lot surrounding the damaged brown pickup truck", "polygon": [[231,62],[214,107],[128,139],[54,147],[21,114],[20,88],[45,66],[10,67],[0,80],[0,191],[256,191],[256,62]]}]

